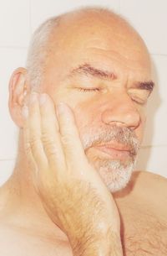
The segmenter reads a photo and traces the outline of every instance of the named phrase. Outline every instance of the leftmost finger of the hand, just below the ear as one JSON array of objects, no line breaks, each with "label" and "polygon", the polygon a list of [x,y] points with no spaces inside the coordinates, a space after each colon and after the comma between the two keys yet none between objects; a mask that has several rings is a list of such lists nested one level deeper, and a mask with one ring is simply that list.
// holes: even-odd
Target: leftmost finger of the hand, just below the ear
[{"label": "leftmost finger of the hand, just below the ear", "polygon": [[38,105],[38,94],[32,93],[28,101],[28,118],[26,118],[24,125],[24,134],[26,140],[26,147],[31,151],[33,159],[38,165],[38,169],[48,165],[46,155],[43,150],[41,141],[41,118]]}]

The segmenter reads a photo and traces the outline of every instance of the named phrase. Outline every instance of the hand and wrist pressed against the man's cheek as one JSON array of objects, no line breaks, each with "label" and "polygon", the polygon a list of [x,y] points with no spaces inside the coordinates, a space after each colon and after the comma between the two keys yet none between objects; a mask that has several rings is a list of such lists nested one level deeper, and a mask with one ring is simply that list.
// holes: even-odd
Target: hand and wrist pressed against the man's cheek
[{"label": "hand and wrist pressed against the man's cheek", "polygon": [[106,252],[111,247],[119,250],[119,212],[114,199],[89,165],[72,110],[59,104],[57,113],[58,118],[47,94],[31,94],[24,145],[43,206],[67,234],[74,255],[92,250],[92,244],[97,251],[104,250],[103,244]]}]

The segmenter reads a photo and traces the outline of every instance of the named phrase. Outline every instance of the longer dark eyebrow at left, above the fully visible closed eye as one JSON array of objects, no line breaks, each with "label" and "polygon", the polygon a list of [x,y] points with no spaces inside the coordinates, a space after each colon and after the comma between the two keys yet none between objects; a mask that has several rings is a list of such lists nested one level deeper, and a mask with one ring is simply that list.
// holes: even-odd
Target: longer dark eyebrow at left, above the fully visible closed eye
[{"label": "longer dark eyebrow at left, above the fully visible closed eye", "polygon": [[72,71],[70,71],[69,76],[74,76],[74,75],[95,76],[95,77],[108,79],[108,80],[116,79],[116,75],[113,72],[97,69],[89,65],[88,63],[79,65],[77,68],[74,68]]}]

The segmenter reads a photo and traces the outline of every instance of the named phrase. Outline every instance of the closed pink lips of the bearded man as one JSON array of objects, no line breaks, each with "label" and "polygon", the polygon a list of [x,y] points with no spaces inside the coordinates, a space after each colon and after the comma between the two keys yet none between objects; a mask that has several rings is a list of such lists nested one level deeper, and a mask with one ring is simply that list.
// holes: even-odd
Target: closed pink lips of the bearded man
[{"label": "closed pink lips of the bearded man", "polygon": [[107,154],[112,159],[127,159],[130,157],[132,149],[120,144],[103,144],[94,147],[102,154]]}]

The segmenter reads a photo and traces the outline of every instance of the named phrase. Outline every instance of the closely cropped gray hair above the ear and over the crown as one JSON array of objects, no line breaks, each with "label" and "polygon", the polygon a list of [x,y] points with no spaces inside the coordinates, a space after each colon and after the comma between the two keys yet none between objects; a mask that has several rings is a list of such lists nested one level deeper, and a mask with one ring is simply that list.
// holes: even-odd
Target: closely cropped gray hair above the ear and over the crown
[{"label": "closely cropped gray hair above the ear and over the crown", "polygon": [[69,13],[63,13],[61,15],[48,18],[48,20],[35,30],[29,44],[26,68],[28,70],[28,82],[32,88],[38,88],[43,79],[45,63],[48,57],[48,42],[53,30],[58,28],[58,24],[64,16],[75,13],[108,13],[113,18],[116,18],[117,20],[119,19],[120,22],[128,24],[124,18],[120,17],[108,8],[99,7],[79,8]]}]

